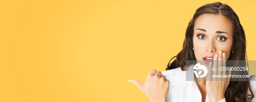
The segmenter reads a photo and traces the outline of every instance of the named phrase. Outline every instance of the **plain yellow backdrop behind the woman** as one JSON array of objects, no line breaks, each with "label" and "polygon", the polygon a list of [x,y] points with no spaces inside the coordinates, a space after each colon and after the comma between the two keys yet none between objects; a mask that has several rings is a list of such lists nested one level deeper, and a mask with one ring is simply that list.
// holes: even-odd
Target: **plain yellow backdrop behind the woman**
[{"label": "plain yellow backdrop behind the woman", "polygon": [[[149,102],[127,80],[164,71],[195,10],[214,2],[2,0],[0,101]],[[256,60],[256,2],[221,2],[237,13]]]}]

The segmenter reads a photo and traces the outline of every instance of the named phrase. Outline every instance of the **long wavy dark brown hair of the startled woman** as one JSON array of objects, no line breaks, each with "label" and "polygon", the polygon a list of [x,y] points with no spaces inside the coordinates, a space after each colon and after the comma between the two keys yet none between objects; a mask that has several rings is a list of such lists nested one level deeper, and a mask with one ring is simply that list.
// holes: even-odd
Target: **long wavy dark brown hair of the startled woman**
[{"label": "long wavy dark brown hair of the startled woman", "polygon": [[[247,60],[245,33],[237,14],[229,5],[216,2],[203,5],[196,10],[193,18],[188,23],[182,50],[177,56],[171,58],[171,60],[173,60],[176,57],[172,63],[170,63],[171,60],[168,62],[166,70],[181,67],[181,70],[184,71],[186,70],[186,60],[196,60],[195,53],[192,50],[193,31],[196,18],[202,14],[223,15],[231,21],[234,53],[230,51],[228,60]],[[236,72],[232,72],[232,74],[236,74]],[[248,75],[248,72],[245,72],[245,74]],[[248,94],[248,92],[251,94]],[[230,81],[225,91],[225,99],[227,102],[251,102],[252,98],[254,98],[254,94],[251,89],[250,81]]]}]

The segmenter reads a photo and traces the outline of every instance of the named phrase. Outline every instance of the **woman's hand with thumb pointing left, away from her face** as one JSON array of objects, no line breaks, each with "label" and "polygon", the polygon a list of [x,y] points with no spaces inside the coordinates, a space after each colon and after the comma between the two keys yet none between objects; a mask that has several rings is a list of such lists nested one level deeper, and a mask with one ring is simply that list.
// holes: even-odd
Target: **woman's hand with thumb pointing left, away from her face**
[{"label": "woman's hand with thumb pointing left, away from her face", "polygon": [[151,70],[147,75],[145,83],[133,78],[128,81],[138,86],[139,89],[150,98],[151,102],[166,102],[166,95],[169,91],[169,81],[160,71],[157,72],[156,69]]}]

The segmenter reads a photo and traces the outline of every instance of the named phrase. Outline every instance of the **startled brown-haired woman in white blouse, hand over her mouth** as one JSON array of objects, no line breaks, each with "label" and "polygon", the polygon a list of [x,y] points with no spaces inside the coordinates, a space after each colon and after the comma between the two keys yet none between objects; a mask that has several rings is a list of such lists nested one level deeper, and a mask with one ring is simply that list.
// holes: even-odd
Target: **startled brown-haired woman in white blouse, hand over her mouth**
[{"label": "startled brown-haired woman in white blouse, hand over her mouth", "polygon": [[[170,61],[176,59],[170,63]],[[212,71],[211,68],[226,67],[227,60],[247,60],[245,33],[238,16],[231,7],[211,3],[198,8],[189,22],[183,48],[168,63],[166,71],[153,69],[146,82],[129,79],[135,83],[151,102],[256,102],[256,82],[221,80],[211,75],[247,74],[248,72]],[[186,65],[186,60],[196,62]],[[186,73],[193,73],[199,61],[208,66],[205,78],[186,81]],[[216,61],[216,62],[215,62]],[[246,65],[240,64],[240,65]],[[210,68],[210,70],[209,70]]]}]

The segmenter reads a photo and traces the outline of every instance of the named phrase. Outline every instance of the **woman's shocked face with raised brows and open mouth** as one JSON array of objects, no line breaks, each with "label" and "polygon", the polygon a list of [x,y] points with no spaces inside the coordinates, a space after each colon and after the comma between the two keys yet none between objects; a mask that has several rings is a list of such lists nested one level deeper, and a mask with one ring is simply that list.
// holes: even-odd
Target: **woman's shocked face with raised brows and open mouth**
[{"label": "woman's shocked face with raised brows and open mouth", "polygon": [[219,51],[226,54],[227,60],[232,50],[232,36],[232,23],[225,16],[200,15],[195,21],[193,34],[196,60],[203,61],[205,57],[213,58]]}]

